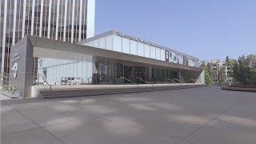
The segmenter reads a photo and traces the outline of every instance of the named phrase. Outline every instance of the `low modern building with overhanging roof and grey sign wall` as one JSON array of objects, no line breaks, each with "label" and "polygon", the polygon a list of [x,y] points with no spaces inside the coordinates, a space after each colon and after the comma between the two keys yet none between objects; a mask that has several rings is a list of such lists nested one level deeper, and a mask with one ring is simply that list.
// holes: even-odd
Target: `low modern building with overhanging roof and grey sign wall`
[{"label": "low modern building with overhanging roof and grey sign wall", "polygon": [[[33,57],[38,58],[37,65]],[[26,36],[10,52],[10,84],[18,86],[21,97],[31,95],[36,83],[170,82],[204,84],[198,58],[115,30],[77,43]]]}]

